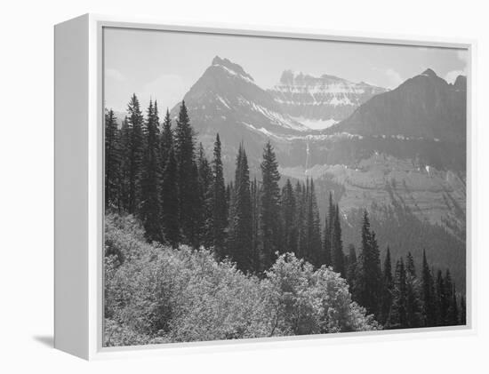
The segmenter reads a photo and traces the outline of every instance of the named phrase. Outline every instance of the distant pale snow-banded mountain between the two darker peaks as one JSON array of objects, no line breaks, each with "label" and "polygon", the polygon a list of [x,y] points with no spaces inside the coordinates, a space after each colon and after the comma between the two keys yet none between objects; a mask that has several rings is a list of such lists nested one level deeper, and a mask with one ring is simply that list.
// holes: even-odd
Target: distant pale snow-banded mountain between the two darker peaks
[{"label": "distant pale snow-banded mountain between the two darker peaks", "polygon": [[286,114],[310,129],[321,130],[347,118],[365,101],[386,91],[337,76],[310,76],[285,70],[269,93]]}]

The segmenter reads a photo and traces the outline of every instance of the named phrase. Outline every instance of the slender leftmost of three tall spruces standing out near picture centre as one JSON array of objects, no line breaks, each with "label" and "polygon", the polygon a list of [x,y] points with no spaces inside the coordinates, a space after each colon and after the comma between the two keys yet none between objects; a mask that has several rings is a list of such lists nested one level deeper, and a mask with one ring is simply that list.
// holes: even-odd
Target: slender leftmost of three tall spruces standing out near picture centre
[{"label": "slender leftmost of three tall spruces standing out near picture centre", "polygon": [[212,239],[218,258],[224,257],[225,228],[227,226],[227,197],[220,158],[220,138],[216,135],[212,159]]}]

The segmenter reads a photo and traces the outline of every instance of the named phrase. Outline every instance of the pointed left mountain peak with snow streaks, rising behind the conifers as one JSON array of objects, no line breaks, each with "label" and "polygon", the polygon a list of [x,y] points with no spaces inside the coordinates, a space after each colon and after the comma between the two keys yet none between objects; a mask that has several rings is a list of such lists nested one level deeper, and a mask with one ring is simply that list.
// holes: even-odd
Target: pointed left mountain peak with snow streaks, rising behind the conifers
[{"label": "pointed left mountain peak with snow streaks, rising behind the conifers", "polygon": [[[198,138],[209,151],[217,132],[223,144],[224,162],[234,164],[240,142],[247,146],[250,163],[258,165],[263,144],[272,138],[284,142],[289,136],[309,131],[282,110],[269,92],[254,83],[244,68],[216,56],[196,81],[184,101]],[[172,109],[178,114],[180,104]],[[228,158],[228,159],[226,159]]]}]

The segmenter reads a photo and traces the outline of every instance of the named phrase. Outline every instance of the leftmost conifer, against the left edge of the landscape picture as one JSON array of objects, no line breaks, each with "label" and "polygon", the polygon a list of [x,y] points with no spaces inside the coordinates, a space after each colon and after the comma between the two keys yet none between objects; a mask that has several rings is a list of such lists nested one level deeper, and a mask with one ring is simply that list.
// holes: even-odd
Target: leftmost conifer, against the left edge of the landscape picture
[{"label": "leftmost conifer, against the left edge of the landscape picture", "polygon": [[112,109],[105,113],[105,209],[118,206],[119,144],[116,115]]}]

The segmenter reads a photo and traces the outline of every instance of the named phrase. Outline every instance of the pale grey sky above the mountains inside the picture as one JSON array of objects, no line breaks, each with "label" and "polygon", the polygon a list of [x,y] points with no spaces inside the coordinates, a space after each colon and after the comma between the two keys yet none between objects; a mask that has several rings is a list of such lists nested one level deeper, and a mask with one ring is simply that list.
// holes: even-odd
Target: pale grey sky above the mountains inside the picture
[{"label": "pale grey sky above the mountains inside the picture", "polygon": [[132,93],[146,107],[172,108],[214,56],[244,68],[263,89],[278,83],[286,69],[312,76],[339,76],[393,89],[427,68],[453,83],[466,74],[466,50],[390,44],[231,36],[105,28],[106,107],[125,111]]}]

